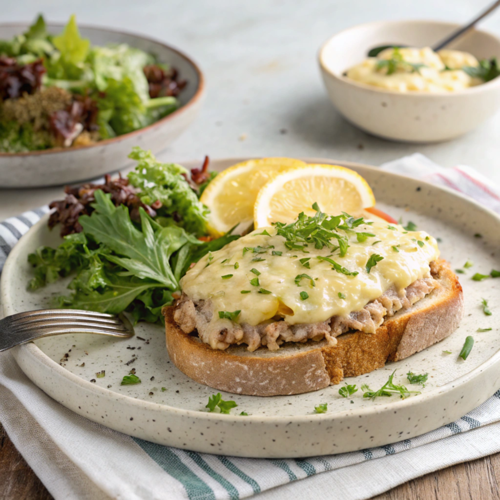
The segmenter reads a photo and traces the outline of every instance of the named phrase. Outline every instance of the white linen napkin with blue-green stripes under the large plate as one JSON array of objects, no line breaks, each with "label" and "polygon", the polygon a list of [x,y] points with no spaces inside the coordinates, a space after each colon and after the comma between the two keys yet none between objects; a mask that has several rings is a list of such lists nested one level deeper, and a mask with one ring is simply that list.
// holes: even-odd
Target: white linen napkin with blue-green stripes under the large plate
[{"label": "white linen napkin with blue-green stripes under the large plate", "polygon": [[[381,168],[447,185],[500,212],[497,188],[470,167],[443,168],[413,154]],[[0,269],[2,257],[46,211],[0,223]],[[500,451],[500,390],[453,423],[381,447],[307,459],[224,457],[161,446],[87,420],[38,389],[7,351],[0,353],[0,421],[56,499],[362,500]]]}]

